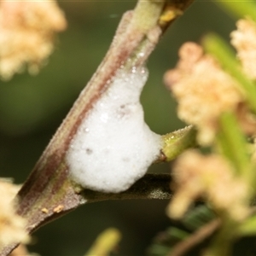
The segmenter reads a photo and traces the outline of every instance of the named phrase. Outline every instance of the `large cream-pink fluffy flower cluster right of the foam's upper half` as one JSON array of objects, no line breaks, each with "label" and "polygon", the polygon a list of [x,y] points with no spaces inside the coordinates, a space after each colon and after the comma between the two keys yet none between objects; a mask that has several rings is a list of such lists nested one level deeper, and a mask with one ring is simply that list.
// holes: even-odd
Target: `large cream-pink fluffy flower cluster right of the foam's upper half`
[{"label": "large cream-pink fluffy flower cluster right of the foam's upper half", "polygon": [[165,75],[165,83],[177,99],[177,115],[198,129],[201,145],[212,143],[218,130],[218,118],[225,111],[234,111],[243,96],[238,84],[219,67],[210,55],[203,55],[201,46],[183,44],[177,67]]}]

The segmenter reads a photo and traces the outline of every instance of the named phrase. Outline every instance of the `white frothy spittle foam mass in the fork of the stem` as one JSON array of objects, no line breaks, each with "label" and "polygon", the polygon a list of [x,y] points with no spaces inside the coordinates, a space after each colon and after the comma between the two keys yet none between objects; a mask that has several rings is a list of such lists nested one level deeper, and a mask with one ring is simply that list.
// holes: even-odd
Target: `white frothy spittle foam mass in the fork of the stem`
[{"label": "white frothy spittle foam mass in the fork of the stem", "polygon": [[120,69],[73,137],[67,152],[71,177],[84,188],[118,193],[143,177],[160,154],[160,135],[144,122],[141,67]]}]

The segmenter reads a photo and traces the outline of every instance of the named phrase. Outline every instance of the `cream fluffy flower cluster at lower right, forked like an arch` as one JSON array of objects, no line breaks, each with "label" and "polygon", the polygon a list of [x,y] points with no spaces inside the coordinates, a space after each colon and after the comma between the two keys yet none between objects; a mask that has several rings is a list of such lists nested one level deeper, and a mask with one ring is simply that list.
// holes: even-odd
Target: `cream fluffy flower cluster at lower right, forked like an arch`
[{"label": "cream fluffy flower cluster at lower right, forked like an arch", "polygon": [[229,163],[218,154],[183,153],[173,168],[176,193],[168,207],[171,218],[182,218],[190,204],[201,197],[214,210],[241,220],[249,214],[247,184],[234,176]]}]

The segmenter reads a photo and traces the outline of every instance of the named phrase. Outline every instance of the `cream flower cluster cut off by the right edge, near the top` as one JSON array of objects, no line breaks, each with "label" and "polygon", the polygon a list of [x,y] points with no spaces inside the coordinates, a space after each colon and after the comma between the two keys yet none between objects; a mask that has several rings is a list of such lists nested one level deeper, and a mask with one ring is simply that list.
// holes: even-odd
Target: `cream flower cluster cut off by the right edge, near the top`
[{"label": "cream flower cluster cut off by the right edge, near the top", "polygon": [[231,32],[231,44],[236,48],[244,73],[256,79],[256,23],[253,20],[238,20],[237,30]]}]

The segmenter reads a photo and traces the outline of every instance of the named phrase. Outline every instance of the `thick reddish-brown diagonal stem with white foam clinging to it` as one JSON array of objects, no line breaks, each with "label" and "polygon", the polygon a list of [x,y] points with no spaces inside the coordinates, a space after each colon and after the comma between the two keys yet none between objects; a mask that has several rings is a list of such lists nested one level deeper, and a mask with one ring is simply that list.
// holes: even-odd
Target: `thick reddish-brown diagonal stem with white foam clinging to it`
[{"label": "thick reddish-brown diagonal stem with white foam clinging to it", "polygon": [[[67,118],[56,131],[31,175],[20,189],[17,212],[26,218],[28,232],[84,204],[86,193],[94,197],[93,200],[90,198],[90,201],[97,201],[96,196],[99,196],[98,200],[114,197],[124,199],[129,196],[148,198],[146,194],[143,194],[143,189],[140,190],[141,194],[134,195],[132,193],[135,191],[129,189],[128,191],[133,191],[129,196],[128,194],[102,195],[97,192],[89,193],[89,190],[84,192],[85,194],[80,194],[81,188],[69,179],[65,157],[81,121],[86,119],[94,103],[104,94],[108,86],[111,86],[108,81],[113,78],[119,67],[121,65],[125,65],[125,68],[129,68],[129,65],[143,65],[166,27],[193,1],[141,0],[134,11],[125,13],[102,64],[81,92],[73,108],[67,114]],[[144,56],[137,58],[137,53],[141,50]],[[150,180],[150,184],[154,187],[153,183],[154,180]],[[13,247],[15,245],[3,249],[0,255],[7,255]]]}]

